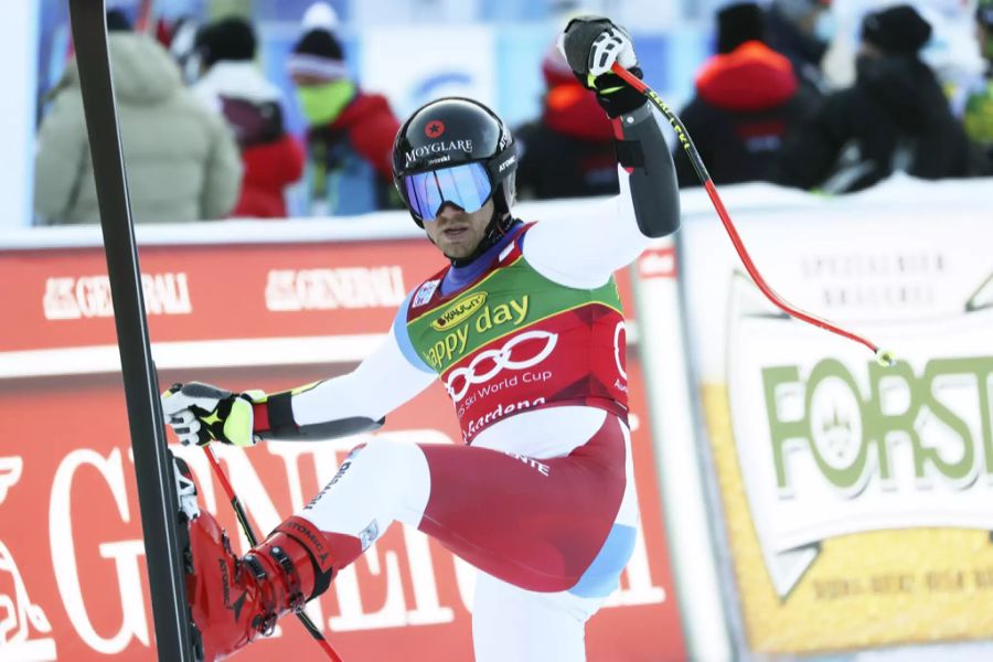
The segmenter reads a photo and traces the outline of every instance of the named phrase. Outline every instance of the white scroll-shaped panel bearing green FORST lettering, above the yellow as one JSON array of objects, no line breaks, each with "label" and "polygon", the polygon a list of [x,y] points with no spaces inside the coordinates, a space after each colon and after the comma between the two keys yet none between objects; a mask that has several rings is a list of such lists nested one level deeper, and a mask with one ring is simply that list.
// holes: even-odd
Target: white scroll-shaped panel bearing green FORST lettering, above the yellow
[{"label": "white scroll-shaped panel bearing green FORST lettering, above the yellow", "polygon": [[786,596],[824,538],[886,528],[993,531],[993,308],[864,331],[861,345],[777,314],[739,277],[728,395],[766,565]]}]

